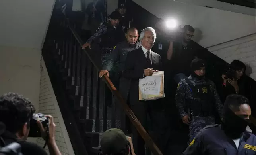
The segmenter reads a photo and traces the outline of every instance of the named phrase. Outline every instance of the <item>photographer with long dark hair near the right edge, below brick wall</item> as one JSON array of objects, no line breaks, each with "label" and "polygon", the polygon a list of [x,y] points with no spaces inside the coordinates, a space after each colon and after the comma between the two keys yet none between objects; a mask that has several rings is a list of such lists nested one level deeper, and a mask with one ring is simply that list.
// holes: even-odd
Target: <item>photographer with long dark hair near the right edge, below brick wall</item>
[{"label": "photographer with long dark hair near the right edge, below brick wall", "polygon": [[246,84],[245,84],[245,77],[244,72],[246,70],[246,66],[243,62],[239,60],[234,60],[231,62],[229,67],[225,70],[222,74],[222,93],[221,93],[221,100],[225,102],[225,98],[231,94],[240,94],[246,97]]}]

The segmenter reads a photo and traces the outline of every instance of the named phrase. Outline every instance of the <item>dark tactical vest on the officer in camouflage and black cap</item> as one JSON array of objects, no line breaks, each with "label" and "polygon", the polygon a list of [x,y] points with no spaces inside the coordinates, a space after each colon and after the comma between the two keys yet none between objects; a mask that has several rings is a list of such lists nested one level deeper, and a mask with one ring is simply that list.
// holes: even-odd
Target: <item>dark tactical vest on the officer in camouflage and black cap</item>
[{"label": "dark tactical vest on the officer in camouflage and black cap", "polygon": [[214,114],[215,98],[208,82],[206,84],[193,84],[188,78],[185,79],[190,87],[192,99],[188,99],[188,108],[192,116],[211,116]]}]

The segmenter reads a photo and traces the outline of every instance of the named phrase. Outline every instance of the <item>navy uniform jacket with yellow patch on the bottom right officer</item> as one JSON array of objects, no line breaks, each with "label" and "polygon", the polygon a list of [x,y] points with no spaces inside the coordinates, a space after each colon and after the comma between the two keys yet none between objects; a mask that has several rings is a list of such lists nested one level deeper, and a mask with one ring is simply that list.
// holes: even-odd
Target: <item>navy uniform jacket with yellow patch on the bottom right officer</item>
[{"label": "navy uniform jacket with yellow patch on the bottom right officer", "polygon": [[182,155],[255,155],[256,136],[244,131],[237,149],[220,125],[210,125],[201,130]]}]

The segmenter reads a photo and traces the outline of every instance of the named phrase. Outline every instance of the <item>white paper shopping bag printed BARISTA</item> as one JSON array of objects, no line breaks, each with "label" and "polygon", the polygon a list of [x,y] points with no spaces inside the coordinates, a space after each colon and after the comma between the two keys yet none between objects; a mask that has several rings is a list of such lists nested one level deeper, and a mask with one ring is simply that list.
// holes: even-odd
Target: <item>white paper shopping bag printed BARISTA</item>
[{"label": "white paper shopping bag printed BARISTA", "polygon": [[153,72],[152,76],[139,79],[139,100],[157,100],[165,97],[164,72]]}]

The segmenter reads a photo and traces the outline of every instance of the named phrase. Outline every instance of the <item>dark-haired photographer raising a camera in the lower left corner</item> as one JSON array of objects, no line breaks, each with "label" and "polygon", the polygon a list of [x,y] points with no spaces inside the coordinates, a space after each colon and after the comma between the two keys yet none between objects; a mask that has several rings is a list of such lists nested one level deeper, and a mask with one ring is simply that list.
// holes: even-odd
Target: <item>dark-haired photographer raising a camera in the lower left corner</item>
[{"label": "dark-haired photographer raising a camera in the lower left corner", "polygon": [[[23,155],[47,155],[47,152],[42,147],[35,143],[26,142],[34,113],[34,106],[28,99],[21,95],[8,93],[0,97],[0,122],[4,123],[6,127],[3,134],[0,135],[4,141],[1,147],[17,142],[21,145],[21,153]],[[46,115],[45,117],[48,118],[48,127],[45,127],[39,120],[36,122],[42,138],[47,140],[50,155],[61,155],[55,142],[53,117],[50,115]]]}]

